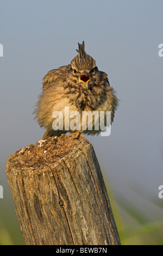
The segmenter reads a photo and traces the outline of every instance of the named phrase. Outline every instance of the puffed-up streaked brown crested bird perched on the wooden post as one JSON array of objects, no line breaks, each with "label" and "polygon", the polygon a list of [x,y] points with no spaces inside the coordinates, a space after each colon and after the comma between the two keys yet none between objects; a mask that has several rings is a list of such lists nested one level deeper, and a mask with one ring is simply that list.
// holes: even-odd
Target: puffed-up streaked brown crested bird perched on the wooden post
[{"label": "puffed-up streaked brown crested bird perched on the wooden post", "polygon": [[[54,131],[52,127],[53,112],[61,111],[64,116],[65,107],[69,107],[70,112],[78,111],[81,116],[82,111],[111,111],[111,121],[114,120],[118,106],[115,90],[110,87],[107,74],[99,71],[95,60],[85,52],[84,41],[78,46],[78,55],[69,65],[53,69],[43,78],[43,92],[35,110],[38,123],[46,128],[42,139],[67,132]],[[80,127],[80,132],[92,135],[101,131],[100,128],[98,131],[82,131],[82,119]],[[69,131],[74,132],[71,129]]]}]

